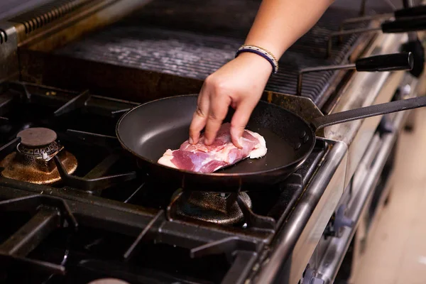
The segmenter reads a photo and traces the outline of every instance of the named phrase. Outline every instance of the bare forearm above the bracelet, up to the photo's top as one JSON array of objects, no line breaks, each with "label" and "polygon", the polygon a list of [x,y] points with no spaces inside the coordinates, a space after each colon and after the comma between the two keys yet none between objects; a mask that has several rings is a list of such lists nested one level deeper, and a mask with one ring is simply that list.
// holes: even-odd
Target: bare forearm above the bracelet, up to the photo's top
[{"label": "bare forearm above the bracelet, up to the photo's top", "polygon": [[276,58],[317,23],[333,0],[263,0],[246,44],[271,51]]}]

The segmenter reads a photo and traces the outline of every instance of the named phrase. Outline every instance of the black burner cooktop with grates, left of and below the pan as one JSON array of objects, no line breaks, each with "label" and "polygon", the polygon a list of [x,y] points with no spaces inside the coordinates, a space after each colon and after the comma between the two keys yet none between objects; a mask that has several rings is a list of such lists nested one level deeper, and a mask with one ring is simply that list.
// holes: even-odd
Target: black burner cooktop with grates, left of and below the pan
[{"label": "black burner cooktop with grates, left of and below the pan", "polygon": [[[138,170],[116,141],[116,121],[135,103],[34,84],[1,87],[0,158],[23,144],[31,155],[40,148],[37,155],[53,157],[43,166],[59,169],[60,177],[53,184],[5,178],[2,165],[6,283],[235,283],[271,243],[331,147],[318,140],[302,168],[275,187],[239,195],[181,192]],[[62,150],[50,147],[53,141]],[[55,151],[70,153],[77,168],[67,170],[66,157]],[[33,273],[9,269],[23,266]]]}]

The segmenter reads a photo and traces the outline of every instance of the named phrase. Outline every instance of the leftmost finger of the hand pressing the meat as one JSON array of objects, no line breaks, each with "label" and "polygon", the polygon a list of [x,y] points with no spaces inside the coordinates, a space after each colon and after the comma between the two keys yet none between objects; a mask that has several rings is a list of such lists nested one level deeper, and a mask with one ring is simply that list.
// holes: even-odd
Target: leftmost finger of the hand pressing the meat
[{"label": "leftmost finger of the hand pressing the meat", "polygon": [[207,116],[209,114],[209,94],[206,92],[206,88],[203,86],[200,95],[198,97],[197,109],[192,116],[192,122],[190,126],[190,139],[191,144],[198,143],[200,139],[200,132],[204,129],[207,123]]}]

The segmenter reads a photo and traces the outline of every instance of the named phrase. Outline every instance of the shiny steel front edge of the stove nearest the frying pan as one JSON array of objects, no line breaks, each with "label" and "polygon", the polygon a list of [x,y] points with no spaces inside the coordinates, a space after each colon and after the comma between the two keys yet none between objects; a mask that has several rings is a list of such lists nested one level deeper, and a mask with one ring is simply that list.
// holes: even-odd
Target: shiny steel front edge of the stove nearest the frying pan
[{"label": "shiny steel front edge of the stove nearest the frying pan", "polygon": [[277,232],[258,273],[253,273],[256,275],[252,283],[297,283],[305,271],[344,192],[348,147],[342,141],[324,141],[332,145],[331,150],[324,156],[285,226]]}]

